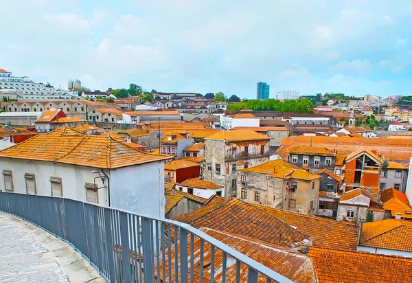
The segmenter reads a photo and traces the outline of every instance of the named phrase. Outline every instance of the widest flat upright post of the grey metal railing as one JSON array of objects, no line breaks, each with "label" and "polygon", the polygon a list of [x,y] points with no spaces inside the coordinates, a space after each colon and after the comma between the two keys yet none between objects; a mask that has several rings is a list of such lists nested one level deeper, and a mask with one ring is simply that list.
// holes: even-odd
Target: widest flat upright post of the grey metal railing
[{"label": "widest flat upright post of the grey metal railing", "polygon": [[142,235],[142,246],[143,246],[143,265],[144,265],[144,282],[154,283],[155,282],[155,262],[153,256],[153,246],[152,243],[152,225],[150,225],[151,219],[142,217],[141,218],[141,235]]}]

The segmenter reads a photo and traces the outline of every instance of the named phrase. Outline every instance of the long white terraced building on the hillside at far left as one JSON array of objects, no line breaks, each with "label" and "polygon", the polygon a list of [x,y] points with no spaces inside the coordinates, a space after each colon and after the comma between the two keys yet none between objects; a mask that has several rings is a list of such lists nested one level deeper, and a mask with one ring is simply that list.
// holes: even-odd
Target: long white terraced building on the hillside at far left
[{"label": "long white terraced building on the hillside at far left", "polygon": [[43,83],[33,82],[27,76],[16,77],[12,76],[11,71],[5,71],[5,69],[0,69],[0,89],[13,89],[18,91],[19,94],[25,96],[36,95],[38,98],[43,98],[43,95],[57,96],[67,95],[69,91],[62,89],[55,89],[54,87],[46,87]]}]

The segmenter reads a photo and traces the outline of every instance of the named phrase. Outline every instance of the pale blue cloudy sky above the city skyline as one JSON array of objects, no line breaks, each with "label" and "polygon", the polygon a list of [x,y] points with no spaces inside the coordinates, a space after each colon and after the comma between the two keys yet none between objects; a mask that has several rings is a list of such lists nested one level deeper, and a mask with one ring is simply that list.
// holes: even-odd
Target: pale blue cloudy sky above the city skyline
[{"label": "pale blue cloudy sky above the city skyline", "polygon": [[0,68],[63,89],[411,94],[410,0],[0,0],[0,19]]}]

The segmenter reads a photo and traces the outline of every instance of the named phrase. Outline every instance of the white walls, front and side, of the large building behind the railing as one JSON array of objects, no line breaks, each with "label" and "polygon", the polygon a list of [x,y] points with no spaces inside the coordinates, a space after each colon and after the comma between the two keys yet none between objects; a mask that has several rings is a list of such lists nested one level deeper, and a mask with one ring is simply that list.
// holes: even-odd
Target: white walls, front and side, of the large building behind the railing
[{"label": "white walls, front and side, of the large building behind the railing", "polygon": [[[96,194],[100,205],[109,205],[110,192],[111,207],[164,217],[163,161],[101,170],[49,161],[0,158],[0,172],[4,172],[3,170],[11,171],[14,192],[27,193],[25,174],[33,174],[36,194],[51,196],[51,177],[54,177],[61,179],[64,198],[87,201],[87,189],[84,186],[95,181],[100,188]],[[5,174],[1,178],[4,179]],[[4,180],[0,181],[0,191],[5,192]]]}]

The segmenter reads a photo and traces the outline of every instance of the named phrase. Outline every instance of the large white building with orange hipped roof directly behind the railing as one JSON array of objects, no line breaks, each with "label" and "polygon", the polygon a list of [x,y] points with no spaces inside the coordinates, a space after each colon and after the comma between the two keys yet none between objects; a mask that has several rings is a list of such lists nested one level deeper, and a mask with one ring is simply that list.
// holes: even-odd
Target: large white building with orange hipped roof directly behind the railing
[{"label": "large white building with orange hipped roof directly behind the railing", "polygon": [[62,196],[164,217],[164,161],[62,127],[0,152],[0,191]]}]

